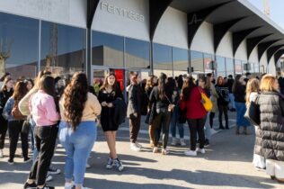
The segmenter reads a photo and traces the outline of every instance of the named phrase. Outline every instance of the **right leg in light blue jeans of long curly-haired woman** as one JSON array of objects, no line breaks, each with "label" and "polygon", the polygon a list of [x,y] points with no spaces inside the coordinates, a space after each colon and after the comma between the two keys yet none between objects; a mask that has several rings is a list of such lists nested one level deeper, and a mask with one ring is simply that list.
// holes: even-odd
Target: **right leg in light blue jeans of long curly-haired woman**
[{"label": "right leg in light blue jeans of long curly-haired woman", "polygon": [[[76,187],[80,187],[84,184],[85,165],[96,140],[96,124],[94,121],[81,122],[75,132],[76,133],[71,136],[75,147],[74,179]],[[88,134],[86,135],[86,133]]]}]

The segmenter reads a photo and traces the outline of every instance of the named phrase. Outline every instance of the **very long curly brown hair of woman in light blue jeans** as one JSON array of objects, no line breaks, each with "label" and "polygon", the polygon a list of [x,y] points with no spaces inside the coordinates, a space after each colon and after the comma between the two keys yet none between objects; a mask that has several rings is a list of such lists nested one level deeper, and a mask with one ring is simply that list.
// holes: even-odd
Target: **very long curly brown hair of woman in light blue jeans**
[{"label": "very long curly brown hair of woman in light blue jeans", "polygon": [[83,72],[76,72],[63,95],[64,115],[67,117],[67,122],[71,124],[72,130],[75,130],[82,120],[87,94],[87,77]]}]

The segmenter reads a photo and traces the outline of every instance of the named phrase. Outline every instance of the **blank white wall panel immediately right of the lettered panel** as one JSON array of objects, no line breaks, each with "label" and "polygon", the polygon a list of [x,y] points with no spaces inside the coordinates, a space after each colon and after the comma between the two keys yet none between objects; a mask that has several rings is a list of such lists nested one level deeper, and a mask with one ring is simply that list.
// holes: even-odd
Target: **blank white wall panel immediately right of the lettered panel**
[{"label": "blank white wall panel immediately right of the lettered panel", "polygon": [[168,7],[157,25],[153,41],[189,49],[187,35],[187,14]]}]

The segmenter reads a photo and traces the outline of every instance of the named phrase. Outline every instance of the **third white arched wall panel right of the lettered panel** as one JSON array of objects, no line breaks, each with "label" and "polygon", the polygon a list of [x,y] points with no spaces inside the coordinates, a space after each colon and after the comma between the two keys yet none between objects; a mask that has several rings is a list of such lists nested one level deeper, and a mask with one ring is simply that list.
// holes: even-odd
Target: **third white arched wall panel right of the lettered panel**
[{"label": "third white arched wall panel right of the lettered panel", "polygon": [[233,35],[232,32],[226,32],[223,39],[220,41],[220,44],[216,52],[217,56],[234,58],[233,57]]}]

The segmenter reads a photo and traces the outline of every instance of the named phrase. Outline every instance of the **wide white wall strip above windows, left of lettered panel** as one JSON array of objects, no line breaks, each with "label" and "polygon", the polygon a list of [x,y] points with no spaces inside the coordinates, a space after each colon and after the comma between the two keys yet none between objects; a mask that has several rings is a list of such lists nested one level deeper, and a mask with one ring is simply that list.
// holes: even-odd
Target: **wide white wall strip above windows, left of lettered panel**
[{"label": "wide white wall strip above windows, left of lettered panel", "polygon": [[0,12],[86,27],[87,0],[0,0]]}]

